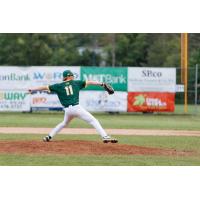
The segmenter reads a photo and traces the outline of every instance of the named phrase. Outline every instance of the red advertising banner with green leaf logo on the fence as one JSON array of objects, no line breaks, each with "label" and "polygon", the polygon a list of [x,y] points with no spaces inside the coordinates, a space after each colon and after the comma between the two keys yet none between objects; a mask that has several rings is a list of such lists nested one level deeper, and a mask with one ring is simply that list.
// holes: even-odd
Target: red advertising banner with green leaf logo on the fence
[{"label": "red advertising banner with green leaf logo on the fence", "polygon": [[174,112],[174,93],[129,92],[128,112]]}]

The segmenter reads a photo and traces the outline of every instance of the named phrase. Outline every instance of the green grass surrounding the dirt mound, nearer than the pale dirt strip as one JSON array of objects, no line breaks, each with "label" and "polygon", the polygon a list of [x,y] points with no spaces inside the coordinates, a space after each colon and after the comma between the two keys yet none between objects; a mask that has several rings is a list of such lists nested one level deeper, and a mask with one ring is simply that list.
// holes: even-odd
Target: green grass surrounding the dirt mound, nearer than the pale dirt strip
[{"label": "green grass surrounding the dirt mound, nearer than the pale dirt strip", "polygon": [[[116,136],[122,144],[195,151],[196,156],[83,156],[1,154],[6,166],[194,166],[200,165],[200,138],[177,136]],[[42,135],[0,134],[0,140],[41,140]],[[97,135],[58,135],[56,140],[99,140]]]}]

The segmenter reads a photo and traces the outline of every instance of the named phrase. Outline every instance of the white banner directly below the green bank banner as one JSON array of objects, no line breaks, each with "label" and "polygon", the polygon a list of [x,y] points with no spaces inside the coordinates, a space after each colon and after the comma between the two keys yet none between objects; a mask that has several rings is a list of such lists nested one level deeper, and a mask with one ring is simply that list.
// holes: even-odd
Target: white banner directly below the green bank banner
[{"label": "white banner directly below the green bank banner", "polygon": [[127,112],[127,92],[81,91],[80,105],[91,112]]}]

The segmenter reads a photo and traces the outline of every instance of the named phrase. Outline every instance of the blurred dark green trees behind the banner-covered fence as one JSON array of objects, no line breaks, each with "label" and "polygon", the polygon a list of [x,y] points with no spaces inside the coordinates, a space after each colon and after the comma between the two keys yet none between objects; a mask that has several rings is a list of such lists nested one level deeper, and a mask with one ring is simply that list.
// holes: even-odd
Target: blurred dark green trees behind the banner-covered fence
[{"label": "blurred dark green trees behind the banner-covered fence", "polygon": [[[0,65],[180,67],[180,33],[0,34]],[[200,34],[189,34],[189,65]]]}]

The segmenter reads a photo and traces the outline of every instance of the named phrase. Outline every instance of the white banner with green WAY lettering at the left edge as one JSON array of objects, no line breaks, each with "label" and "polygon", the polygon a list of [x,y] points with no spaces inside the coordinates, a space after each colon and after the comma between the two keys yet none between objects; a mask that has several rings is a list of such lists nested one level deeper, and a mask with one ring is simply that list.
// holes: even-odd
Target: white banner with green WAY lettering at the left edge
[{"label": "white banner with green WAY lettering at the left edge", "polygon": [[30,95],[24,91],[0,91],[0,111],[30,111]]}]

